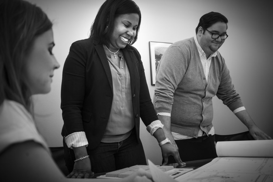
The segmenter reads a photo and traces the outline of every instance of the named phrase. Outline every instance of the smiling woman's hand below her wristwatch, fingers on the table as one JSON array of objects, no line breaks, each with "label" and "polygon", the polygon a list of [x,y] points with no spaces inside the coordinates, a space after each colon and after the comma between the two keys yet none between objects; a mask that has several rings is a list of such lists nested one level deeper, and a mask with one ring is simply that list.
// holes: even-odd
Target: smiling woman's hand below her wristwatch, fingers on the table
[{"label": "smiling woman's hand below her wristwatch, fingers on the table", "polygon": [[164,145],[161,146],[161,152],[162,152],[162,157],[164,158],[164,163],[162,165],[166,165],[168,163],[168,157],[172,155],[175,159],[175,161],[179,165],[185,165],[186,163],[182,162],[179,156],[178,148],[173,146],[170,143],[165,143]]}]

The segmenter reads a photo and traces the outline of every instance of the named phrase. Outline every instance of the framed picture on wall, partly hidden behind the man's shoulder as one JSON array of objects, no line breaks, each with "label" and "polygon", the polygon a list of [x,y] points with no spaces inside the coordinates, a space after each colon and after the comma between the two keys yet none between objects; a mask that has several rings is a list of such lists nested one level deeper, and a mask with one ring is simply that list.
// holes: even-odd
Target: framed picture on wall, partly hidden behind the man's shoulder
[{"label": "framed picture on wall, partly hidden behind the man's shoulder", "polygon": [[155,85],[155,76],[157,72],[157,66],[163,53],[172,43],[166,42],[149,42],[150,49],[150,67],[151,67],[151,84]]}]

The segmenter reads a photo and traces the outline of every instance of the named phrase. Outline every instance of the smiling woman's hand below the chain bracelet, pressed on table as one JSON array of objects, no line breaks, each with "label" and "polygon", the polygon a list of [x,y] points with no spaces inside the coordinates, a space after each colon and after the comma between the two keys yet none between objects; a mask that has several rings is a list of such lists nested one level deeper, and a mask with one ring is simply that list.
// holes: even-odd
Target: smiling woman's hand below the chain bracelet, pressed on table
[{"label": "smiling woman's hand below the chain bracelet, pressed on table", "polygon": [[87,157],[75,162],[73,171],[67,175],[68,178],[89,178],[94,173],[91,171],[91,162]]}]

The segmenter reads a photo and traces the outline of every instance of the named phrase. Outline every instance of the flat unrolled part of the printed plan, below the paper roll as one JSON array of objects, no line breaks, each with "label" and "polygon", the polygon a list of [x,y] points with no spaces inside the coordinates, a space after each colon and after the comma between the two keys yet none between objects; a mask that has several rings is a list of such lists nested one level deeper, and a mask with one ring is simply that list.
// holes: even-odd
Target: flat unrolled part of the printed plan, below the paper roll
[{"label": "flat unrolled part of the printed plan, below the paper roll", "polygon": [[272,182],[273,158],[217,157],[175,180],[178,182]]}]

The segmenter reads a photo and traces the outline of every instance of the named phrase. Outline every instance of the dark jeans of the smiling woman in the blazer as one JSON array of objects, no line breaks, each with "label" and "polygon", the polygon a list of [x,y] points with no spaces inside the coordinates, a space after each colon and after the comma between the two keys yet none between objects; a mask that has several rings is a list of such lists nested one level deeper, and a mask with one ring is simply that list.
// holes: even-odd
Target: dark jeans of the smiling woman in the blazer
[{"label": "dark jeans of the smiling woman in the blazer", "polygon": [[[66,158],[66,166],[69,173],[73,170],[75,156],[69,149],[70,156]],[[138,143],[136,133],[115,143],[100,143],[94,150],[87,150],[91,161],[91,169],[94,173],[105,173],[134,165],[147,165],[142,143]]]}]

